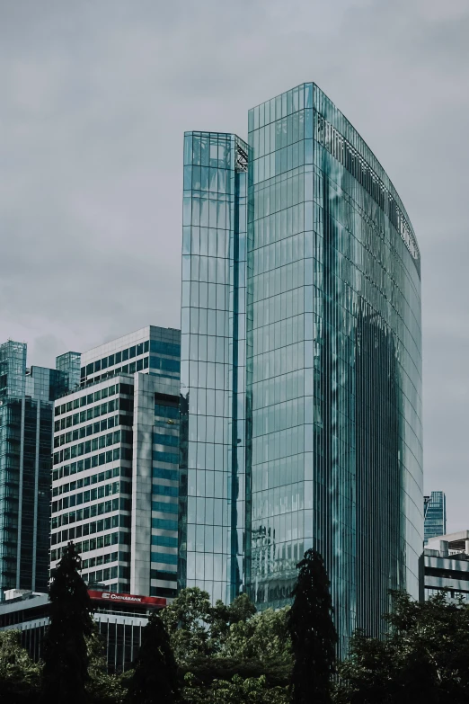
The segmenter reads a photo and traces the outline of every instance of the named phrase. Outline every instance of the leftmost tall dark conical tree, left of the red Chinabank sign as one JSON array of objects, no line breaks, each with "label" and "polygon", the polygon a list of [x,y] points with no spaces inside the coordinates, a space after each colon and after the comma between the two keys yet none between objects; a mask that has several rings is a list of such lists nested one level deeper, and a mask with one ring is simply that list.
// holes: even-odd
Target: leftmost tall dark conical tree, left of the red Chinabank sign
[{"label": "leftmost tall dark conical tree, left of the red Chinabank sign", "polygon": [[73,542],[64,549],[49,589],[50,622],[44,644],[42,701],[83,704],[88,680],[86,638],[93,632],[91,600],[78,573]]}]

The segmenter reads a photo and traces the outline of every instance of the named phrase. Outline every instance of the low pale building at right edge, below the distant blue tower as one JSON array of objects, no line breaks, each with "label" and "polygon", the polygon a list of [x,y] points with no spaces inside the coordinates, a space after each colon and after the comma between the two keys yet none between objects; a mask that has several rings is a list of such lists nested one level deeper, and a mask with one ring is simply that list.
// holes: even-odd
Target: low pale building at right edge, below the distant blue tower
[{"label": "low pale building at right edge, below the distant blue tower", "polygon": [[449,601],[469,600],[469,530],[429,539],[424,561],[425,600],[441,592]]}]

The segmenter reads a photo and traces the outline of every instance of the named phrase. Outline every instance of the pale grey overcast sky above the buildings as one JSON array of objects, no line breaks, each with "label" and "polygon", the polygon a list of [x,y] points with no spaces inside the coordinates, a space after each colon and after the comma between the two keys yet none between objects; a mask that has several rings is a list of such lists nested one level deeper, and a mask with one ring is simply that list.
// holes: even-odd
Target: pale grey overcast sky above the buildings
[{"label": "pale grey overcast sky above the buildings", "polygon": [[468,38],[467,0],[0,0],[0,341],[179,327],[183,131],[314,81],[417,233],[425,488],[469,529]]}]

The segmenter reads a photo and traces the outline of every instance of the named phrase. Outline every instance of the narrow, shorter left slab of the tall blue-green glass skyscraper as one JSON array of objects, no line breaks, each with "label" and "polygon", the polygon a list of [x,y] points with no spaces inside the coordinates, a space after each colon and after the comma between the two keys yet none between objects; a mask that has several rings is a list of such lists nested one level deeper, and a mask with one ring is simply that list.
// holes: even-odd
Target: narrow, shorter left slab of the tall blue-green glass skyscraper
[{"label": "narrow, shorter left slab of the tall blue-green glass skyscraper", "polygon": [[243,589],[248,147],[184,138],[181,310],[181,586]]}]

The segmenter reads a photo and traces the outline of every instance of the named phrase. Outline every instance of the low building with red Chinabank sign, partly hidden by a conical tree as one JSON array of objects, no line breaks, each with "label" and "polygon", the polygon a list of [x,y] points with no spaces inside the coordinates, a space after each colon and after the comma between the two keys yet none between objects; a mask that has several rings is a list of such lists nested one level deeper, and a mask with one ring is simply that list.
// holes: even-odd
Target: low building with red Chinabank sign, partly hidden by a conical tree
[{"label": "low building with red Chinabank sign, partly hidden by a conical tree", "polygon": [[[137,657],[148,614],[163,608],[166,600],[102,590],[89,594],[94,606],[93,617],[106,646],[108,671],[121,673]],[[12,590],[6,597],[7,601],[0,604],[0,631],[20,630],[22,646],[38,662],[49,625],[48,594]]]}]

